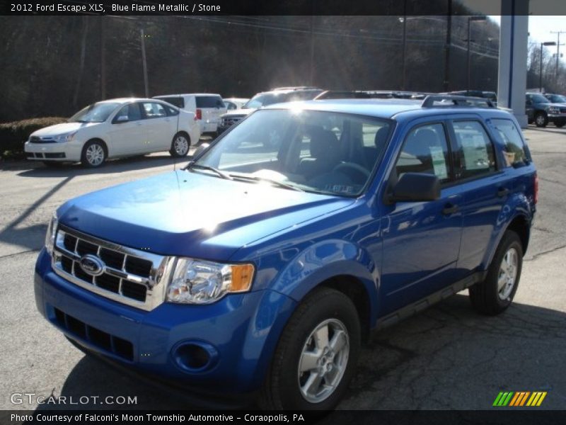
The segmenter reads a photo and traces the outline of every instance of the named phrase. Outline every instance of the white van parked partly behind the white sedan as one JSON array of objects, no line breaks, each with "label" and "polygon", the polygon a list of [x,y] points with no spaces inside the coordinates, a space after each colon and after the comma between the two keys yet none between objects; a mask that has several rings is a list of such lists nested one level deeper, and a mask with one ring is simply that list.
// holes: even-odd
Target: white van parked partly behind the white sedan
[{"label": "white van parked partly behind the white sedan", "polygon": [[166,101],[178,108],[194,113],[200,125],[201,134],[216,133],[220,115],[226,113],[226,106],[219,94],[168,94],[166,96],[154,96],[154,99]]}]

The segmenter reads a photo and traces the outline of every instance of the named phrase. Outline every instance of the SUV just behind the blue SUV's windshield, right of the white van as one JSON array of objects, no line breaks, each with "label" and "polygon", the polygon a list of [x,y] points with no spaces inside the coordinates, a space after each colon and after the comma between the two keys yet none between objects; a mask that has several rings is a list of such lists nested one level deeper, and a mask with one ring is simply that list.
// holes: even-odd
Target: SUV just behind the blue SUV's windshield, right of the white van
[{"label": "SUV just behind the blue SUV's windshield, right of the white van", "polygon": [[238,123],[246,118],[250,113],[258,108],[272,105],[274,103],[285,103],[292,101],[311,101],[323,92],[322,89],[316,87],[282,87],[279,89],[272,89],[271,91],[262,91],[256,94],[253,98],[242,106],[241,109],[228,111],[220,117],[218,125],[218,133],[221,134],[228,130],[231,125]]}]

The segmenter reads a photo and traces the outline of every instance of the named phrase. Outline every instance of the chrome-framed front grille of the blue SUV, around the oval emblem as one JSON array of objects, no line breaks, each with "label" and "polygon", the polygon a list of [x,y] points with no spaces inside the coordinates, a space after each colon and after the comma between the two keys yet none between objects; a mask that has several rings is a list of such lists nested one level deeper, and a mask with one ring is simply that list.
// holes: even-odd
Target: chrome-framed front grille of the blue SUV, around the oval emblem
[{"label": "chrome-framed front grille of the blue SUV, around the oval emblem", "polygon": [[[98,276],[83,270],[79,263],[83,256],[102,261]],[[113,244],[59,225],[52,265],[55,273],[81,288],[149,311],[165,299],[174,258]]]}]

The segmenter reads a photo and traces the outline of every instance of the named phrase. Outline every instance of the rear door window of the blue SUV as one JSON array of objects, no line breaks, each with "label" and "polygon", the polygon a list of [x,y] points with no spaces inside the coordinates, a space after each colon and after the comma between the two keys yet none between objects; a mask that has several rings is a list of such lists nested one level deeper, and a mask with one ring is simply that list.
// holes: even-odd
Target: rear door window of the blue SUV
[{"label": "rear door window of the blue SUV", "polygon": [[454,171],[456,179],[490,174],[497,169],[493,144],[479,121],[453,121],[455,135]]}]

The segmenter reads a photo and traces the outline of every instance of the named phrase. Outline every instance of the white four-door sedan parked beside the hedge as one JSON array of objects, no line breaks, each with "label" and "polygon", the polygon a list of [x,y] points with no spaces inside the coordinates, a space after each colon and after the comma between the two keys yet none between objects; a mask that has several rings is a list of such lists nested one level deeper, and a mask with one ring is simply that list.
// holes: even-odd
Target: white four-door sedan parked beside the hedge
[{"label": "white four-door sedan parked beside the hedge", "polygon": [[25,152],[47,166],[81,162],[96,167],[108,158],[150,152],[184,157],[199,137],[194,113],[156,99],[118,98],[93,103],[67,123],[33,132]]}]

